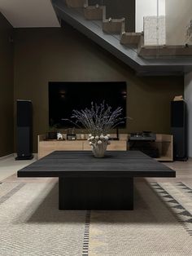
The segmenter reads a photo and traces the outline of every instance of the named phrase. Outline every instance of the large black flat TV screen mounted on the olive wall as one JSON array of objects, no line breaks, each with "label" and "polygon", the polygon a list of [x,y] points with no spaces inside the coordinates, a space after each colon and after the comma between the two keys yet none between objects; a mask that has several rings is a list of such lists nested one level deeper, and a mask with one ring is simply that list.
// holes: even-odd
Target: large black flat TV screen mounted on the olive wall
[{"label": "large black flat TV screen mounted on the olive wall", "polygon": [[[101,104],[103,100],[114,110],[123,108],[122,117],[126,117],[126,95],[126,82],[49,82],[49,124],[73,127],[68,121],[73,109],[90,108],[91,102]],[[126,121],[119,127],[125,126]]]}]

